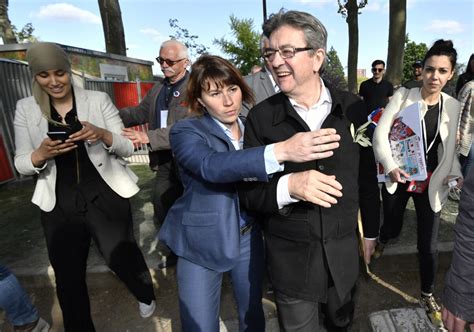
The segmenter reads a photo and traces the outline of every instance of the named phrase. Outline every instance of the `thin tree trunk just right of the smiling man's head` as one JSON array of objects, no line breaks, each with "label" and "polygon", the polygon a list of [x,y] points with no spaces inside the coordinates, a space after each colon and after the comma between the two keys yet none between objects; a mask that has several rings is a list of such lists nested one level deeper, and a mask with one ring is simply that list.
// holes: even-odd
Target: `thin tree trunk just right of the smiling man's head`
[{"label": "thin tree trunk just right of the smiling man's head", "polygon": [[357,58],[359,54],[359,7],[357,0],[349,0],[347,9],[347,27],[349,31],[349,52],[347,55],[347,85],[349,91],[357,93]]}]

